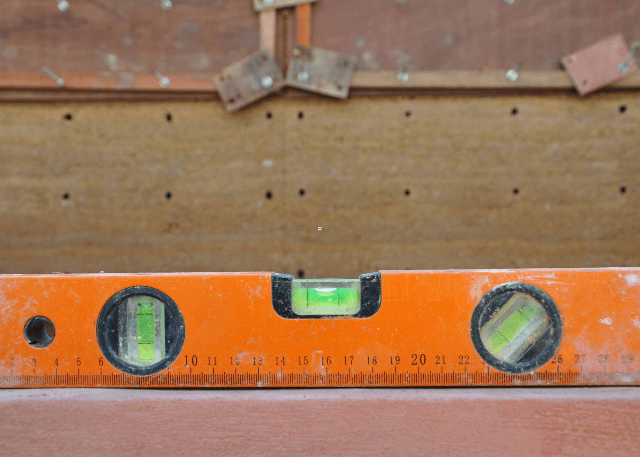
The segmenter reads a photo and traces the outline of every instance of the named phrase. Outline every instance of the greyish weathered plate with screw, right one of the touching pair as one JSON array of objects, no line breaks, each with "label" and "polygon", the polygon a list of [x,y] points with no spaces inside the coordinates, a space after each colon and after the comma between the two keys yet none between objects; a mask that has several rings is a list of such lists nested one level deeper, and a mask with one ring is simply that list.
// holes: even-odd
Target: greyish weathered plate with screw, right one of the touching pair
[{"label": "greyish weathered plate with screw, right one of the touching pair", "polygon": [[296,46],[289,62],[287,86],[346,99],[356,58],[317,47]]}]

